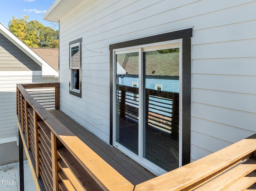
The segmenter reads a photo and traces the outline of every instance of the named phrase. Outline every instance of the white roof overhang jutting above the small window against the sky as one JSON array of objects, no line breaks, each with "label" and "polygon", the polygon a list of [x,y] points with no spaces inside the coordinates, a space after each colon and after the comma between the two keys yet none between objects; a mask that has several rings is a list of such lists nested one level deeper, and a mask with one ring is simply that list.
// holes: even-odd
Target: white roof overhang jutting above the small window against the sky
[{"label": "white roof overhang jutting above the small window against the sky", "polygon": [[83,0],[55,0],[50,8],[46,11],[44,20],[59,22],[68,12],[78,6]]}]

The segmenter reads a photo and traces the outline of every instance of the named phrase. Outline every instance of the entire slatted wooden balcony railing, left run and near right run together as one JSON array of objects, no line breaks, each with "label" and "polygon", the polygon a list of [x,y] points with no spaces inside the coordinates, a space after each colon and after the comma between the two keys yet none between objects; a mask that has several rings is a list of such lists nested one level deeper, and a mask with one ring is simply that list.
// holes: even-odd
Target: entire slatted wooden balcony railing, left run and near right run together
[{"label": "entire slatted wooden balcony railing, left run and near right run together", "polygon": [[49,191],[239,191],[256,182],[256,134],[164,175],[132,185],[56,120],[22,85],[17,85],[17,114],[25,150],[32,152],[33,170]]}]

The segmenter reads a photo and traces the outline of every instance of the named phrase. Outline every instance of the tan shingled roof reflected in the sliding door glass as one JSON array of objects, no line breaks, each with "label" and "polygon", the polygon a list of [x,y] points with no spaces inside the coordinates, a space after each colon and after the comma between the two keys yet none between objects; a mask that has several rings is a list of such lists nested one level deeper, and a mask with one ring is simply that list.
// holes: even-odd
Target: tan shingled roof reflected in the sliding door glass
[{"label": "tan shingled roof reflected in the sliding door glass", "polygon": [[[138,55],[134,53],[119,54],[116,60],[124,68],[127,75],[138,75]],[[179,53],[151,52],[146,55],[146,76],[160,78],[179,76]]]}]

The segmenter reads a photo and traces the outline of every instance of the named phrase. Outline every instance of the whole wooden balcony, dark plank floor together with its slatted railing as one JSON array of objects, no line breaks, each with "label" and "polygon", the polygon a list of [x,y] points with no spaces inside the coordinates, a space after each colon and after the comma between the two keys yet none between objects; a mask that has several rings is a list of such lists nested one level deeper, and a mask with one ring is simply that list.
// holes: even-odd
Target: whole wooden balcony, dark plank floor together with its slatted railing
[{"label": "whole wooden balcony, dark plank floor together with its slatted railing", "polygon": [[[20,161],[24,148],[38,191],[255,190],[256,134],[155,177],[60,110],[49,113],[24,87],[54,87],[57,109],[59,84],[17,85]],[[20,191],[23,177],[20,165]]]}]

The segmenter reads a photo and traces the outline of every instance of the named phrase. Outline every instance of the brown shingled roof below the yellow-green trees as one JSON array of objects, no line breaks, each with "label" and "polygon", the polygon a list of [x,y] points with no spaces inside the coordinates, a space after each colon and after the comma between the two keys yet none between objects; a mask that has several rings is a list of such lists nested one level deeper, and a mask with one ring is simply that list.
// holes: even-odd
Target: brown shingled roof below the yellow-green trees
[{"label": "brown shingled roof below the yellow-green trees", "polygon": [[58,48],[30,48],[37,53],[44,61],[59,71],[59,49]]}]

